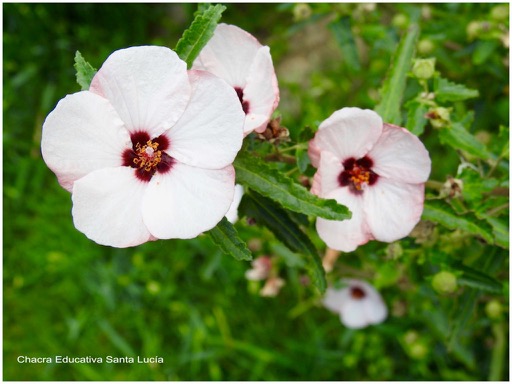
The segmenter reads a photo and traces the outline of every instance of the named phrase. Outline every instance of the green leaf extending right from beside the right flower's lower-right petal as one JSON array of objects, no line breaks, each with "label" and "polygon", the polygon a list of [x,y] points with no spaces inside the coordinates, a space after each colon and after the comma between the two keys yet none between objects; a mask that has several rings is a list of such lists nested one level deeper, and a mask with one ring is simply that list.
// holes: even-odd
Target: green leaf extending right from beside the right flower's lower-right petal
[{"label": "green leaf extending right from beside the right flower's lower-right petal", "polygon": [[428,201],[423,209],[423,219],[439,223],[448,229],[461,229],[494,244],[492,228],[485,221],[478,220],[473,213],[457,215],[453,208],[441,200]]}]

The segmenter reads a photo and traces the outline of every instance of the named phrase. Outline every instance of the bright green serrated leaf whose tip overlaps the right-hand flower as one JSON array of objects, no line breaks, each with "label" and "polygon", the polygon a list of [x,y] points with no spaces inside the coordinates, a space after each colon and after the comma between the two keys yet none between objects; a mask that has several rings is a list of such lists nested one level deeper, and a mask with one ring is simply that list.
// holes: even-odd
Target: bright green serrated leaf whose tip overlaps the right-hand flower
[{"label": "bright green serrated leaf whose tip overlaps the right-hand flower", "polygon": [[270,168],[257,157],[240,152],[234,166],[238,183],[277,201],[291,211],[328,220],[345,220],[352,216],[347,207],[335,200],[311,194],[302,185]]}]

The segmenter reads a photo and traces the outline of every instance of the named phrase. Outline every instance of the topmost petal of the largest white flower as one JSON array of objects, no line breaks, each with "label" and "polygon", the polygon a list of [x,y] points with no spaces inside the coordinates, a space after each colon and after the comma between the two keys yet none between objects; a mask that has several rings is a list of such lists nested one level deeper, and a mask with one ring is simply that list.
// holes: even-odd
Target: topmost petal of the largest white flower
[{"label": "topmost petal of the largest white flower", "polygon": [[121,49],[107,58],[90,91],[112,103],[130,132],[145,131],[158,137],[187,106],[187,65],[165,47]]}]

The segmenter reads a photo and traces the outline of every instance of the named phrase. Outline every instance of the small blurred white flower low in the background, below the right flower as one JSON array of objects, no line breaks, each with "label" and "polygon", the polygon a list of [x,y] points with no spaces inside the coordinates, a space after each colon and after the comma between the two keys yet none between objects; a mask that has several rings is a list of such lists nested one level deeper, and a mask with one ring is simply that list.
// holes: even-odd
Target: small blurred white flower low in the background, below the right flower
[{"label": "small blurred white flower low in the background, below the right flower", "polygon": [[357,279],[343,279],[340,283],[344,285],[342,288],[327,288],[323,304],[339,313],[347,328],[364,328],[386,319],[386,304],[370,284]]}]

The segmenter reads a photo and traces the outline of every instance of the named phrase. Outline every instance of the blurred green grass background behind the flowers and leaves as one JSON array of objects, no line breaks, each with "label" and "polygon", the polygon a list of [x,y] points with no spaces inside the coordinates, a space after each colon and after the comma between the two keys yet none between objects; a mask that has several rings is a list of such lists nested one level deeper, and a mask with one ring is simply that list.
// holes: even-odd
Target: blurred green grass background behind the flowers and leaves
[{"label": "blurred green grass background behind the flowers and leaves", "polygon": [[[222,21],[271,47],[282,124],[296,139],[336,109],[373,108],[401,31],[421,14],[419,56],[436,57],[444,77],[480,91],[473,129],[494,134],[508,125],[508,51],[497,39],[470,39],[467,26],[492,19],[495,7],[247,3],[228,4]],[[195,10],[3,4],[4,380],[485,380],[492,343],[482,305],[465,344],[448,351],[443,314],[453,301],[425,284],[427,266],[411,262],[415,274],[383,291],[387,322],[355,332],[318,305],[297,267],[282,269],[287,284],[276,298],[263,298],[244,278],[249,264],[222,255],[209,238],[113,249],[73,227],[70,195],[39,148],[46,115],[79,90],[75,51],[98,68],[119,48],[173,48]],[[351,17],[358,62],[343,55],[329,27],[340,15]],[[423,139],[432,141],[428,132]],[[454,151],[430,150],[433,179],[456,172]],[[255,256],[285,253],[268,231],[243,220],[237,228]],[[385,279],[399,265],[378,269],[384,256],[383,246],[368,244],[347,269]],[[415,351],[404,341],[411,332],[421,341]],[[20,355],[161,356],[165,363],[22,365]]]}]

